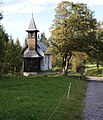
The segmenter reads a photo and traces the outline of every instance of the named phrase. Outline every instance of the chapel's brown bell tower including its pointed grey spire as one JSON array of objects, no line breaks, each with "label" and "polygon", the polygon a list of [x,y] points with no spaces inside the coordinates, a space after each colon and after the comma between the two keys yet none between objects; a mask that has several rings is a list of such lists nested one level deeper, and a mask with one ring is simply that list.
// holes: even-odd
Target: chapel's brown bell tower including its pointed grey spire
[{"label": "chapel's brown bell tower including its pointed grey spire", "polygon": [[29,48],[29,50],[37,51],[37,33],[39,32],[39,30],[37,30],[37,28],[36,28],[33,14],[32,14],[30,24],[29,24],[29,28],[26,31],[28,32],[28,48]]}]

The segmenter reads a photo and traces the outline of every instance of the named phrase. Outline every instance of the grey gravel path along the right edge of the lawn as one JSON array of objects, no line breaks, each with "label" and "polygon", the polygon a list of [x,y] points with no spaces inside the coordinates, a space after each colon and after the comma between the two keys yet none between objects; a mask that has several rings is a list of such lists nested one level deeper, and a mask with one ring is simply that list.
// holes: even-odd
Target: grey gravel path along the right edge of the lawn
[{"label": "grey gravel path along the right edge of the lawn", "polygon": [[88,78],[84,120],[103,120],[103,78]]}]

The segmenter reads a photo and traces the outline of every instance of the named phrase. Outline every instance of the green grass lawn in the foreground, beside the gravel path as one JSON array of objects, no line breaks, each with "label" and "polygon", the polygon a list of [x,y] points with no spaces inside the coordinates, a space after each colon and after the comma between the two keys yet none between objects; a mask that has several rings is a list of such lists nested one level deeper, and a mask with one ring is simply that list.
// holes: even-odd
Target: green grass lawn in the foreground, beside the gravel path
[{"label": "green grass lawn in the foreground, beside the gravel path", "polygon": [[[67,99],[70,82],[71,91]],[[87,82],[84,80],[61,75],[2,79],[0,120],[83,120],[86,86]]]}]

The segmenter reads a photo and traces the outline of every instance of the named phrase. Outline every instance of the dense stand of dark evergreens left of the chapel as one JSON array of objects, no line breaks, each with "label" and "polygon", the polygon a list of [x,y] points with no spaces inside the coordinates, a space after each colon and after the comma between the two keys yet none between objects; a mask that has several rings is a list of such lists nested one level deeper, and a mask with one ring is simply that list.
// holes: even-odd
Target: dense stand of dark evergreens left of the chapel
[{"label": "dense stand of dark evergreens left of the chapel", "polygon": [[[2,13],[0,13],[0,20]],[[22,66],[21,45],[17,39],[14,43],[2,25],[0,25],[0,73],[20,72]]]}]

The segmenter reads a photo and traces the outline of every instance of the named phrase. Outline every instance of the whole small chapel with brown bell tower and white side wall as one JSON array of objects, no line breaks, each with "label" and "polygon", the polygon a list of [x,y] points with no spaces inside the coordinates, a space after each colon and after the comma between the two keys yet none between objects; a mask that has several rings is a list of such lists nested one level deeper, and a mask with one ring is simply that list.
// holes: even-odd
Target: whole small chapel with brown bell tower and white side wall
[{"label": "whole small chapel with brown bell tower and white side wall", "polygon": [[28,33],[28,45],[23,50],[23,74],[38,73],[52,69],[51,54],[46,54],[47,46],[37,39],[39,30],[32,15]]}]

